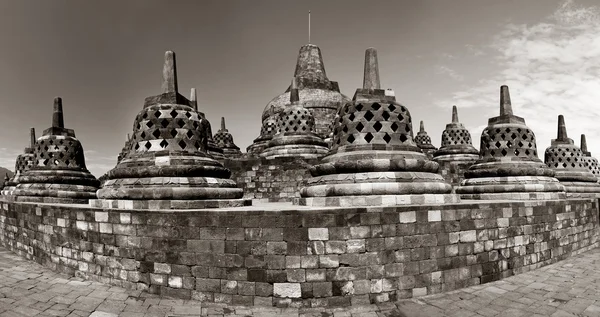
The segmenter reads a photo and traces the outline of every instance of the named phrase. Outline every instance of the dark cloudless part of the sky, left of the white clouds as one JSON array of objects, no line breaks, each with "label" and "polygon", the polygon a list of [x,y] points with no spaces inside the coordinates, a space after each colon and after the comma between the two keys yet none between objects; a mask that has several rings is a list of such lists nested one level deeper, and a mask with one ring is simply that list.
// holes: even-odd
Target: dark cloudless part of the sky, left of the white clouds
[{"label": "dark cloudless part of the sky, left of the white clouds", "polygon": [[[362,85],[364,51],[377,48],[382,88],[395,90],[413,122],[425,120],[439,146],[451,118],[452,92],[498,71],[490,62],[493,56],[473,54],[469,47],[485,51],[504,24],[535,23],[559,4],[3,0],[0,147],[7,157],[0,164],[13,168],[12,154],[28,142],[29,127],[38,136],[49,127],[53,97],[61,96],[66,127],[82,141],[90,170],[102,175],[116,164],[144,98],[161,92],[166,50],[177,53],[180,92],[189,95],[196,87],[199,108],[213,131],[225,116],[245,151],[258,136],[263,108],[289,85],[298,49],[307,43],[308,10],[312,42],[321,48],[327,75],[339,82],[342,93],[351,97]],[[448,64],[462,81],[438,71]],[[497,95],[501,84],[489,93]],[[434,100],[446,98],[447,108],[434,106]],[[461,112],[457,106],[468,127],[484,125],[490,115],[478,108]]]}]

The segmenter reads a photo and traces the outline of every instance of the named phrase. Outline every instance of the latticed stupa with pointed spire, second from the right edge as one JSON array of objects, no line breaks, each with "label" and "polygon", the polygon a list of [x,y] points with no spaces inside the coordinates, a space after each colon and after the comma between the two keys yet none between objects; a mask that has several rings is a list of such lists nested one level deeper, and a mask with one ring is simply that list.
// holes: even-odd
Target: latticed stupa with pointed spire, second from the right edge
[{"label": "latticed stupa with pointed spire, second from the right edge", "polygon": [[544,162],[556,171],[555,177],[565,186],[567,197],[600,195],[598,179],[588,169],[585,156],[567,136],[565,118],[558,116],[558,132],[546,148]]}]

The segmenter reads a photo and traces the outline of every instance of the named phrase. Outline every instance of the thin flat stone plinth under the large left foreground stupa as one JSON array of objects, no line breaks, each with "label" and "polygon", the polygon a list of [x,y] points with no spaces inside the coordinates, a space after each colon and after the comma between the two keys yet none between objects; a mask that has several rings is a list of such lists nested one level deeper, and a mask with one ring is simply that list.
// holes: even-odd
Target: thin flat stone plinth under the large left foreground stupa
[{"label": "thin flat stone plinth under the large left foreground stupa", "polygon": [[108,209],[176,210],[251,206],[251,199],[126,200],[91,199],[90,207]]}]

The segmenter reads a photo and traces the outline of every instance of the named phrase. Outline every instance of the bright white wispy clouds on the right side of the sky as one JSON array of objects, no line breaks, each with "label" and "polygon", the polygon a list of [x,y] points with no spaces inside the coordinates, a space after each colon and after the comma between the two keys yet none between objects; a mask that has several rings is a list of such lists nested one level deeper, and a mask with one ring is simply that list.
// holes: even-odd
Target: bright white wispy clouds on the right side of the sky
[{"label": "bright white wispy clouds on the right side of the sky", "polygon": [[[506,84],[515,114],[536,133],[539,152],[556,138],[557,116],[563,114],[569,136],[579,143],[579,134],[587,134],[588,148],[600,156],[599,34],[600,7],[574,1],[538,23],[507,24],[488,47],[497,71],[449,99],[495,115],[499,86]],[[448,103],[436,102],[444,108]],[[478,142],[480,130],[471,133]]]}]

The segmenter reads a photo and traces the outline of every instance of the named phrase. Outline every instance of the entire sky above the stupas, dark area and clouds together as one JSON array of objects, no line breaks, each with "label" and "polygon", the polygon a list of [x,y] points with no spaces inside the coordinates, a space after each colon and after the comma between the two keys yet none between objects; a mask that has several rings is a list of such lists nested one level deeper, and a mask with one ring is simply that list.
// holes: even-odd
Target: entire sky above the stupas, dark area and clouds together
[{"label": "entire sky above the stupas, dark area and clouds together", "polygon": [[540,152],[563,114],[600,156],[597,0],[0,0],[0,166],[14,168],[29,127],[39,137],[51,125],[60,96],[89,170],[113,168],[144,98],[161,92],[167,50],[180,92],[196,88],[213,132],[225,117],[245,151],[289,85],[309,10],[329,79],[351,97],[365,49],[377,48],[382,88],[434,145],[456,105],[479,148],[508,85]]}]

